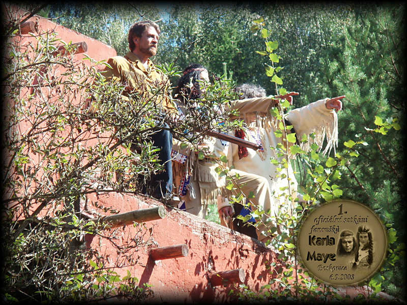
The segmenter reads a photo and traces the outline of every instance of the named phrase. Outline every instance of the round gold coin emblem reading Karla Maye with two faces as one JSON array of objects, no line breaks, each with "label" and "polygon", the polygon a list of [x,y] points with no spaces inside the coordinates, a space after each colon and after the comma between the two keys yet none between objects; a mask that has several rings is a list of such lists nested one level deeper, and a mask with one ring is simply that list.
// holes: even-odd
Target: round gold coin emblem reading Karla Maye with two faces
[{"label": "round gold coin emblem reading Karla Maye with two faces", "polygon": [[387,250],[385,227],[366,205],[334,200],[311,211],[298,234],[308,271],[331,285],[353,285],[379,270]]}]

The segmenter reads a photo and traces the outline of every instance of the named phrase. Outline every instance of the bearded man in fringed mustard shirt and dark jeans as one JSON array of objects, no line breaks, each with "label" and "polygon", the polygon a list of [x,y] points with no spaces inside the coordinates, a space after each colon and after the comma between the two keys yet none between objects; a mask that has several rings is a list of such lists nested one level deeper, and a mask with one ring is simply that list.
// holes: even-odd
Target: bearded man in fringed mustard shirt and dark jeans
[{"label": "bearded man in fringed mustard shirt and dark jeans", "polygon": [[[129,90],[136,90],[144,101],[150,100],[162,118],[166,114],[177,115],[178,111],[168,93],[168,78],[150,60],[157,53],[159,35],[160,28],[155,22],[134,23],[128,34],[130,52],[125,56],[109,58],[107,63],[111,68],[105,69],[104,76],[108,80],[125,84]],[[160,127],[168,128],[166,123],[159,124]],[[160,148],[159,159],[164,166],[161,173],[154,174],[151,178],[150,186],[154,188],[152,195],[156,198],[168,198],[172,192],[172,135],[168,130],[162,129],[151,135],[151,139],[153,145]]]}]

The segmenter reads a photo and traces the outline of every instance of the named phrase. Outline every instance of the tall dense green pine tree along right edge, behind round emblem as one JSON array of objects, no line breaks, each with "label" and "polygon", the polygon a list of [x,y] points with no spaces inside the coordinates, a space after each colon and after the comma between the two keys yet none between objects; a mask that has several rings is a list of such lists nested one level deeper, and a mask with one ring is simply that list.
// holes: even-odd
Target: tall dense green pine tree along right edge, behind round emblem
[{"label": "tall dense green pine tree along right edge, behind round emblem", "polygon": [[[369,202],[389,229],[388,259],[369,285],[400,295],[405,268],[402,198],[405,7],[356,6],[352,26],[321,56],[324,91],[346,95],[339,119],[338,153],[353,149],[357,161],[343,163],[338,185],[346,198]],[[355,148],[355,143],[362,143]],[[391,287],[391,288],[390,288]]]}]

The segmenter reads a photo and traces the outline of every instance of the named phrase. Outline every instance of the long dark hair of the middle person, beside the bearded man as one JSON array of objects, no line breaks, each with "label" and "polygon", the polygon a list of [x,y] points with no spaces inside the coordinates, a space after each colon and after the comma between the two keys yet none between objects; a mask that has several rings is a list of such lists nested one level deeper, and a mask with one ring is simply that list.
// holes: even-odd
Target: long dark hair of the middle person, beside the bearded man
[{"label": "long dark hair of the middle person, beside the bearded man", "polygon": [[[188,100],[196,100],[200,97],[200,85],[198,80],[202,71],[207,70],[199,64],[191,64],[183,71],[183,76],[178,81],[178,86],[174,90],[174,98],[186,103]],[[188,84],[192,83],[189,87]]]}]

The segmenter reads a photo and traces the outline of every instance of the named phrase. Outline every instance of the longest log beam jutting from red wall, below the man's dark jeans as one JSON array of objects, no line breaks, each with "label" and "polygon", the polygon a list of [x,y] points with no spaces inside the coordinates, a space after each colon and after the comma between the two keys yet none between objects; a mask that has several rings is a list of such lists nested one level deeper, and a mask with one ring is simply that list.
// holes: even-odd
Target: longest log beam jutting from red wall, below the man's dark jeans
[{"label": "longest log beam jutting from red wall, below the man's dark jeans", "polygon": [[134,211],[129,211],[117,215],[110,215],[101,217],[99,219],[92,219],[93,221],[109,222],[111,227],[120,227],[123,225],[130,225],[133,222],[141,223],[165,217],[165,208],[163,206],[149,207]]}]

